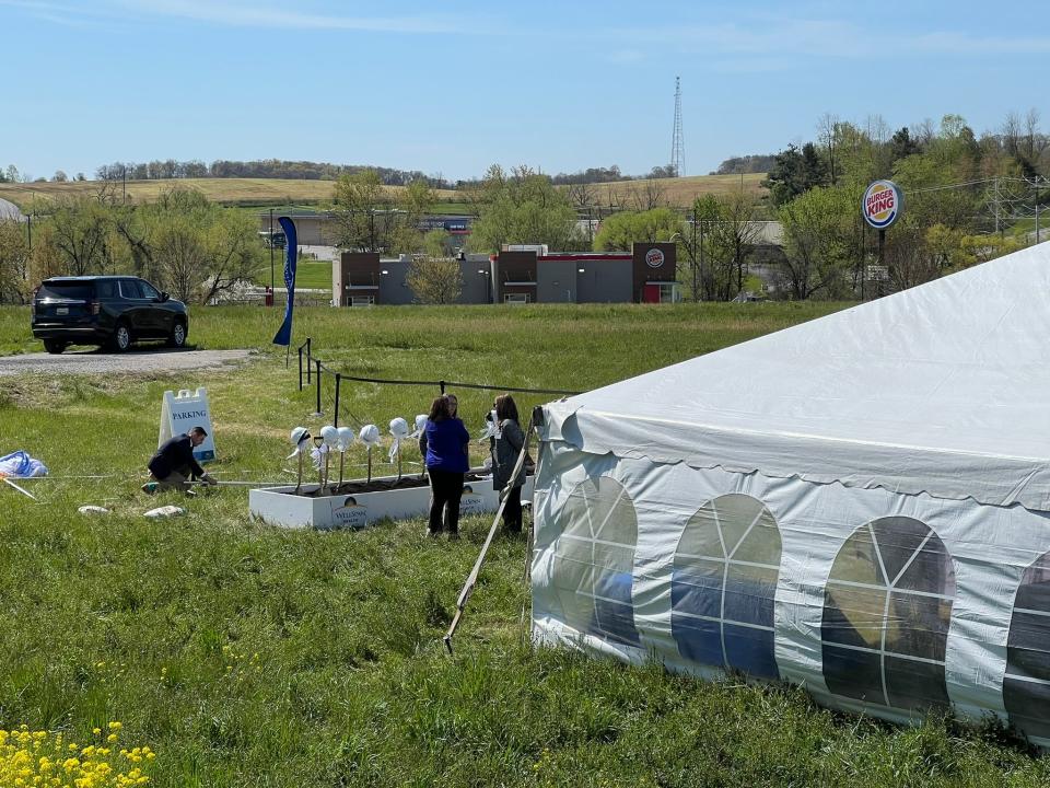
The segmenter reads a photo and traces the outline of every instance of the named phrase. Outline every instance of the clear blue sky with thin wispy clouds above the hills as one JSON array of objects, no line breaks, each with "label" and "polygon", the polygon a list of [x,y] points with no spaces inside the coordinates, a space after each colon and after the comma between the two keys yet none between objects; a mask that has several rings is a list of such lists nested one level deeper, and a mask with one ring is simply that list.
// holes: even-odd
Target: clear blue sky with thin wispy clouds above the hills
[{"label": "clear blue sky with thin wispy clouds above the hills", "polygon": [[1046,3],[0,0],[0,166],[305,159],[480,175],[812,139],[821,115],[978,132],[1047,104]]}]

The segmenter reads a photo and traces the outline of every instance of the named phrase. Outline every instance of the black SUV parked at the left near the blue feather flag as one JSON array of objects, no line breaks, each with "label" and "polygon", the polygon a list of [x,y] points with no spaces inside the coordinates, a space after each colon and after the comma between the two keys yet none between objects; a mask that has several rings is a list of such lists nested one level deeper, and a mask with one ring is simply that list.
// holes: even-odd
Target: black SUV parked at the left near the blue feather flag
[{"label": "black SUV parked at the left near the blue feather flag", "polygon": [[137,277],[52,277],[33,298],[33,336],[49,354],[68,345],[124,351],[139,339],[183,347],[188,335],[186,304]]}]

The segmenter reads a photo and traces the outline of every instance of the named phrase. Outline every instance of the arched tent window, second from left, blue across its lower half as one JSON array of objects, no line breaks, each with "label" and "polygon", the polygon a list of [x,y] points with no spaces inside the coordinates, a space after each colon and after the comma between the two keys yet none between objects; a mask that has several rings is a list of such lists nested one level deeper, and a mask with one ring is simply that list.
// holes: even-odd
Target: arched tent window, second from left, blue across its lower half
[{"label": "arched tent window, second from left, blue across its lower half", "polygon": [[781,541],[769,509],[746,495],[702,506],[682,531],[672,576],[672,634],[682,657],[769,679]]}]

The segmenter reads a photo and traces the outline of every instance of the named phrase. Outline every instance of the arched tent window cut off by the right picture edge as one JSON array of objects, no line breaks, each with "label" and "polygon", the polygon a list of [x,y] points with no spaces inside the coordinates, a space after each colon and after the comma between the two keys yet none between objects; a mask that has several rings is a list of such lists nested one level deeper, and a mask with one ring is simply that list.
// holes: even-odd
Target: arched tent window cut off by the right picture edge
[{"label": "arched tent window cut off by the right picture edge", "polygon": [[1050,553],[1025,569],[1006,640],[1003,705],[1027,735],[1050,739]]}]

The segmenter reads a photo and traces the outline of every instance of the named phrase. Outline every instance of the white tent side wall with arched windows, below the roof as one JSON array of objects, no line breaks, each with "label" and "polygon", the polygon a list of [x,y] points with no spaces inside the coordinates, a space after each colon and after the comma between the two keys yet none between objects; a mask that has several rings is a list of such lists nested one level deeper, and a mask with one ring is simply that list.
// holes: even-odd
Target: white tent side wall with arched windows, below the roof
[{"label": "white tent side wall with arched windows, below the roof", "polygon": [[897,721],[992,714],[1050,741],[1043,513],[563,441],[541,445],[535,508],[539,642],[779,677]]}]

